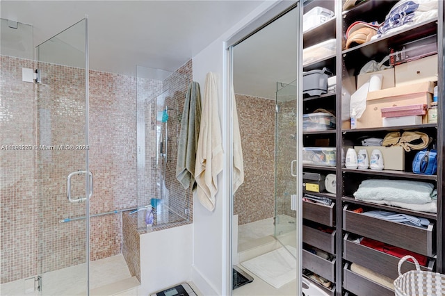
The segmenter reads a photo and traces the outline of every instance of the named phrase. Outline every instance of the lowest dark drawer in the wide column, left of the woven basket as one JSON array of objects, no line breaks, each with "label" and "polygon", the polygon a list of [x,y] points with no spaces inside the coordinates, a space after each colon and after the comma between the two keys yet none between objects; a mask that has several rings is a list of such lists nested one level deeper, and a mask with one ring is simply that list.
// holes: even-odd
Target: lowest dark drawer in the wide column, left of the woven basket
[{"label": "lowest dark drawer in the wide column, left of the woven basket", "polygon": [[343,288],[355,295],[394,296],[394,290],[349,270],[348,263],[343,268]]}]

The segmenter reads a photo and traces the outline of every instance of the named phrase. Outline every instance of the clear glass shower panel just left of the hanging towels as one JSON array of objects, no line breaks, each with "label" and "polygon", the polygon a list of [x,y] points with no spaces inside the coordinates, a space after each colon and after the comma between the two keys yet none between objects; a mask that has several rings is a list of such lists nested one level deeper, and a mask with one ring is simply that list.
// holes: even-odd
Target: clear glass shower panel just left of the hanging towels
[{"label": "clear glass shower panel just left of the hanging towels", "polygon": [[[177,181],[176,164],[189,77],[139,65],[136,76],[138,208],[152,206],[155,228],[188,222],[191,190]],[[145,228],[140,211],[138,229]]]}]

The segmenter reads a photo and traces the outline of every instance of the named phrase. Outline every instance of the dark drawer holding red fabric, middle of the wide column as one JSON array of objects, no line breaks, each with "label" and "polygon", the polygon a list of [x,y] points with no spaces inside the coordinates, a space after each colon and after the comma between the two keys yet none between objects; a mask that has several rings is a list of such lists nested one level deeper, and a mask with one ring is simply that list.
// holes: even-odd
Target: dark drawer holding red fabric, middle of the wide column
[{"label": "dark drawer holding red fabric, middle of the wide column", "polygon": [[[343,258],[358,265],[366,266],[366,268],[391,279],[398,277],[397,265],[401,258],[348,240],[348,234],[343,239]],[[421,270],[432,271],[434,265],[435,261],[431,259],[428,262],[428,267],[421,266]],[[416,265],[410,261],[405,261],[402,265],[402,273],[410,270],[416,270]]]}]

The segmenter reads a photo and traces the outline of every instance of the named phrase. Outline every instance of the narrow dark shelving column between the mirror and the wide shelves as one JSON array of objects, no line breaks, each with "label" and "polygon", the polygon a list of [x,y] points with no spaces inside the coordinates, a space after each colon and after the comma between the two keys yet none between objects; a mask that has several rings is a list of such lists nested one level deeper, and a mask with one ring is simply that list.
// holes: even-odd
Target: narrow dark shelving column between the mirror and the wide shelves
[{"label": "narrow dark shelving column between the mirror and the wide shelves", "polygon": [[[316,6],[326,8],[335,12],[338,3],[335,1],[306,1],[304,13],[312,10]],[[303,34],[303,48],[312,47],[314,44],[325,42],[327,40],[337,40],[337,14],[328,19],[323,24],[312,28]],[[327,68],[335,75],[337,68],[337,54],[317,59],[312,63],[303,65],[303,71],[321,70]],[[315,97],[305,97],[303,99],[303,113],[309,114],[321,112],[318,109],[327,110],[327,112],[336,113],[337,92],[321,94]],[[323,131],[303,131],[303,145],[305,147],[337,147],[336,143],[337,129],[326,129]],[[320,141],[323,143],[320,145]],[[303,172],[321,174],[335,174],[337,167],[329,165],[303,165]],[[324,182],[324,181],[323,181]],[[324,184],[323,184],[324,186]],[[339,262],[336,254],[336,240],[339,236],[336,225],[337,195],[330,192],[306,192],[310,195],[316,195],[331,200],[331,204],[314,204],[312,202],[303,202],[303,262],[304,276],[313,281],[318,287],[325,290],[329,295],[335,295],[337,291],[336,268]],[[318,254],[319,250],[323,255]],[[316,254],[314,254],[316,252]],[[324,257],[328,256],[328,260]],[[341,258],[341,257],[340,257]],[[313,272],[317,277],[323,277],[332,282],[329,288],[326,288],[316,277],[311,277]],[[308,275],[309,274],[309,275]]]}]

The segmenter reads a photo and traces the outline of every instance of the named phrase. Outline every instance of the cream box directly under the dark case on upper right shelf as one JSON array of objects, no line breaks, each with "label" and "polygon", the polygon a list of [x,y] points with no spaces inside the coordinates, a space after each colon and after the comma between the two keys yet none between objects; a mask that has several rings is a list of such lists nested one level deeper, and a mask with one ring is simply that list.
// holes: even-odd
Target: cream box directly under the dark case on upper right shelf
[{"label": "cream box directly under the dark case on upper right shelf", "polygon": [[412,83],[420,83],[424,81],[437,81],[438,65],[437,54],[396,65],[396,86],[410,85]]}]

